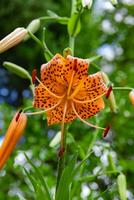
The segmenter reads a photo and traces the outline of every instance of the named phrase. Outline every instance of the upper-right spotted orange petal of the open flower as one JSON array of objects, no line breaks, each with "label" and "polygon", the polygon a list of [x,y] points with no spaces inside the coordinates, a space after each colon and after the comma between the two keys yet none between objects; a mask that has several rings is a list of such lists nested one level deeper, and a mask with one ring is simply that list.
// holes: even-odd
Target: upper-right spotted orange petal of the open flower
[{"label": "upper-right spotted orange petal of the open flower", "polygon": [[101,72],[89,75],[83,82],[83,86],[75,99],[81,101],[96,100],[107,92],[107,87],[103,82]]}]

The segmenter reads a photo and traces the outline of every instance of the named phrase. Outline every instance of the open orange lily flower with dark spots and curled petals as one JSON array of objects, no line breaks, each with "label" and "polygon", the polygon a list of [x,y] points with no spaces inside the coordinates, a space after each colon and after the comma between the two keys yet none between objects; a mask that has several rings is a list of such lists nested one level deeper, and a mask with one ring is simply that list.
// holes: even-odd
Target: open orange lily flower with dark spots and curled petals
[{"label": "open orange lily flower with dark spots and curled petals", "polygon": [[33,104],[46,111],[48,125],[61,123],[64,127],[64,123],[79,118],[105,130],[84,120],[104,109],[102,96],[107,93],[101,72],[88,75],[88,66],[87,59],[70,55],[64,58],[60,54],[41,66],[41,81],[36,77],[39,85],[35,87]]}]

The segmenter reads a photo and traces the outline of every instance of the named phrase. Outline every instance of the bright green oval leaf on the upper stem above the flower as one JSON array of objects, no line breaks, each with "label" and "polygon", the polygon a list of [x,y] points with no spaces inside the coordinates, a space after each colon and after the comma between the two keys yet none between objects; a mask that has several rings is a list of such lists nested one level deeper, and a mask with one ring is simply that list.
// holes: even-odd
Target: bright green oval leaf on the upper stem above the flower
[{"label": "bright green oval leaf on the upper stem above the flower", "polygon": [[68,22],[68,33],[75,37],[81,30],[80,14],[74,13]]}]

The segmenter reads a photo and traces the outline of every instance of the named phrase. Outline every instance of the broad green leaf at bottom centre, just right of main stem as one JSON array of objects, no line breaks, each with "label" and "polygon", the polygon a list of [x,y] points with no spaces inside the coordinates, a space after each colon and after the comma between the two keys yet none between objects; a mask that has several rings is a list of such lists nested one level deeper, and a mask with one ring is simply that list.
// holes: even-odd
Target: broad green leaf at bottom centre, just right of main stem
[{"label": "broad green leaf at bottom centre, just right of main stem", "polygon": [[73,180],[72,172],[76,163],[76,159],[77,154],[73,156],[68,166],[64,169],[59,182],[55,200],[69,200],[70,184]]}]

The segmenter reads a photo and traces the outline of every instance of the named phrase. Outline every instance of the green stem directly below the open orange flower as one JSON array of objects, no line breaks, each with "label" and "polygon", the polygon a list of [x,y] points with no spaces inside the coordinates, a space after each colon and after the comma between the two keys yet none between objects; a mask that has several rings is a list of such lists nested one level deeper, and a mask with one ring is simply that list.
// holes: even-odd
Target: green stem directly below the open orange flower
[{"label": "green stem directly below the open orange flower", "polygon": [[56,191],[59,186],[60,178],[62,176],[63,170],[65,168],[65,157],[66,157],[66,134],[67,134],[68,126],[64,126],[64,138],[63,138],[63,146],[65,148],[65,151],[63,152],[63,155],[59,156],[58,159],[58,175],[57,175],[57,183],[56,183]]}]

